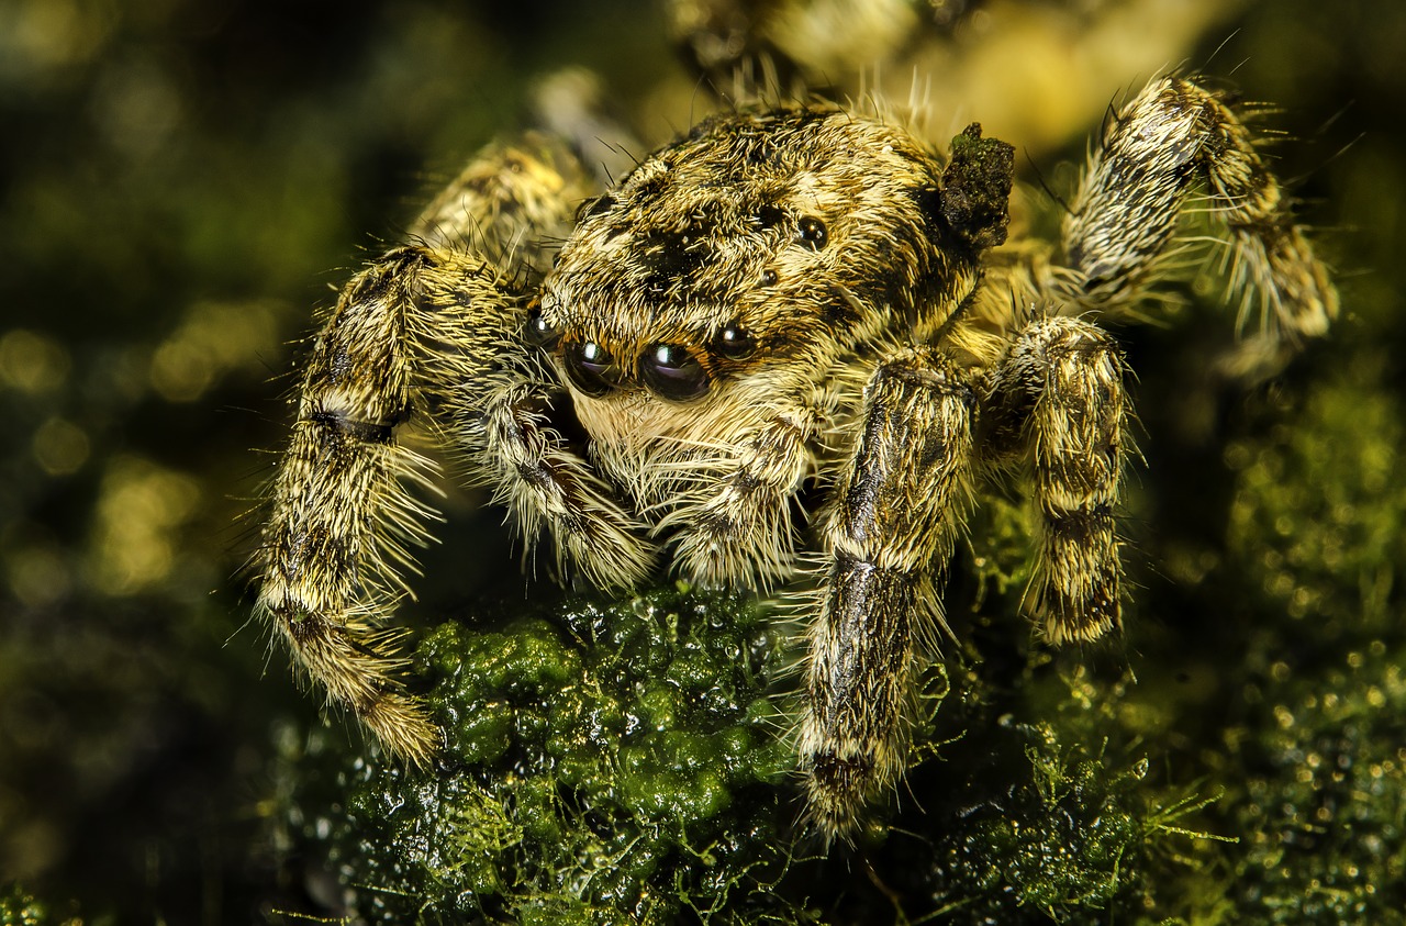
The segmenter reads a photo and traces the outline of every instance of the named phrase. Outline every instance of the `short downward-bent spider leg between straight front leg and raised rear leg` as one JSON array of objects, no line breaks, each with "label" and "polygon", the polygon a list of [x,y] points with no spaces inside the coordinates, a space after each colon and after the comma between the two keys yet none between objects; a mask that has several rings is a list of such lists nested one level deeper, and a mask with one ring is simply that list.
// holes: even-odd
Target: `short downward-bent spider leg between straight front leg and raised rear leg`
[{"label": "short downward-bent spider leg between straight front leg and raised rear leg", "polygon": [[1122,354],[1078,319],[1029,323],[987,381],[979,454],[1032,464],[1042,540],[1031,597],[1052,644],[1098,639],[1119,625],[1114,510],[1126,417]]}]

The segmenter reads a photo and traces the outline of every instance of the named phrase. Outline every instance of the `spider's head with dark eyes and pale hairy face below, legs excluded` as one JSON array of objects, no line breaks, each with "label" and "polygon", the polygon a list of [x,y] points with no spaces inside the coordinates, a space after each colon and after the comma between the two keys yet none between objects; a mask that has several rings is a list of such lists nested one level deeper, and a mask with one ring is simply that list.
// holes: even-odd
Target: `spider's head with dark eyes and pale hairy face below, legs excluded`
[{"label": "spider's head with dark eyes and pale hairy face below, legs excluded", "polygon": [[838,110],[716,118],[582,209],[530,327],[685,575],[793,575],[786,499],[853,423],[860,358],[928,340],[1004,237],[1010,146],[967,138],[994,170]]}]

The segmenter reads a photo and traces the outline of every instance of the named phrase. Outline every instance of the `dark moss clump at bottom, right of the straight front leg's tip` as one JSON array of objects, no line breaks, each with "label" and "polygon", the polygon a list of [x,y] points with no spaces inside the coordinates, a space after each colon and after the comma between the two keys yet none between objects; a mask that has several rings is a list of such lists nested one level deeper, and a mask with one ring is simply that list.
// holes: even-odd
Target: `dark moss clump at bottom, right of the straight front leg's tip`
[{"label": "dark moss clump at bottom, right of the straight front leg's tip", "polygon": [[[1049,722],[981,714],[912,773],[921,812],[868,859],[911,920],[1150,923],[1220,888],[1201,882],[1222,849],[1198,823],[1213,791],[1170,784],[1146,743],[1115,739],[1119,686],[1066,682]],[[1090,687],[1099,705],[1078,708]]]}]

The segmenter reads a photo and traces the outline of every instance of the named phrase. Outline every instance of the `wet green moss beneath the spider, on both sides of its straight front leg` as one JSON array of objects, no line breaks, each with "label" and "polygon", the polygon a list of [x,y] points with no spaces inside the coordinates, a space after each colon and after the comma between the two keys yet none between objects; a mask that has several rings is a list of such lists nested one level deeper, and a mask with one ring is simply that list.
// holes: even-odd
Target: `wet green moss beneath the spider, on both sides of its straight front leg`
[{"label": "wet green moss beneath the spider, on both sides of its straight front leg", "polygon": [[[993,549],[1026,549],[1017,510],[993,511],[1011,531],[988,534]],[[1039,656],[936,662],[911,800],[872,808],[856,845],[827,856],[797,826],[783,712],[793,674],[769,611],[669,587],[433,631],[415,666],[449,731],[439,767],[328,755],[321,738],[318,774],[307,757],[291,771],[333,783],[321,807],[305,794],[297,811],[352,885],[347,912],[872,922],[897,902],[957,922],[1101,922],[1109,909],[1160,909],[1159,885],[1187,870],[1195,845],[1181,823],[1205,801],[1149,781],[1146,753],[1112,745],[1121,673],[1064,673]],[[1047,721],[1015,719],[1021,700],[995,687],[1007,667],[1047,698]],[[868,882],[856,870],[870,870]]]}]

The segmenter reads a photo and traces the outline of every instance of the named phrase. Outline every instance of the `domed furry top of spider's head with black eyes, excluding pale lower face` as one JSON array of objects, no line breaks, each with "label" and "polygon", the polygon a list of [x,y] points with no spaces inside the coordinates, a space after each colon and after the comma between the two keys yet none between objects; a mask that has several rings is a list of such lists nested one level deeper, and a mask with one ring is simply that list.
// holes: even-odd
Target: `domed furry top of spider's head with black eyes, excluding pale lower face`
[{"label": "domed furry top of spider's head with black eyes, excluding pale lower face", "polygon": [[706,121],[581,207],[529,337],[583,402],[803,389],[970,294],[1010,191],[972,160],[839,111]]}]

